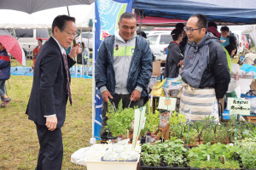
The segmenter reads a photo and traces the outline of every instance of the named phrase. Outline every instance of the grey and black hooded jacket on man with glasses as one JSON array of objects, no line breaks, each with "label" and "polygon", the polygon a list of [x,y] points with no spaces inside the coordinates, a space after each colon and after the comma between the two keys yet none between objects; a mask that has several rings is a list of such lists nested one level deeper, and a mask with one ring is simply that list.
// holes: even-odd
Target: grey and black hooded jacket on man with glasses
[{"label": "grey and black hooded jacket on man with glasses", "polygon": [[215,88],[216,98],[224,97],[230,83],[230,69],[224,49],[212,33],[207,33],[198,44],[188,42],[181,76],[193,88]]}]

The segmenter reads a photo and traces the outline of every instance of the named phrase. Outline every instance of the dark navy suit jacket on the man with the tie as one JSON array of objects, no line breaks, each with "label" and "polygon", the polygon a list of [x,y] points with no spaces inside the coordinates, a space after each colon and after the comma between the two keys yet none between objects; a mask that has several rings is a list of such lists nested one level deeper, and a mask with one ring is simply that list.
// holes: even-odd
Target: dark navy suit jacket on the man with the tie
[{"label": "dark navy suit jacket on the man with the tie", "polygon": [[[68,68],[74,64],[75,61],[67,55]],[[69,71],[68,74],[70,77]],[[44,116],[56,114],[57,127],[62,127],[66,117],[67,98],[67,76],[61,49],[53,37],[50,37],[40,49],[34,68],[32,92],[26,108],[28,119],[45,125]]]}]

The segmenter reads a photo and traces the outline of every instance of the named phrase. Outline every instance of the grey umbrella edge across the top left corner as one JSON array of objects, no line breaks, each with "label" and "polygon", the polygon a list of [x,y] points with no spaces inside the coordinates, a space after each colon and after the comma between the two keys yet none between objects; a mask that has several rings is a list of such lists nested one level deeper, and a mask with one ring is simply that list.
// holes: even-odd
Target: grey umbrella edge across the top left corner
[{"label": "grey umbrella edge across the top left corner", "polygon": [[90,4],[95,1],[96,0],[1,0],[0,9],[13,9],[32,14],[48,8]]}]

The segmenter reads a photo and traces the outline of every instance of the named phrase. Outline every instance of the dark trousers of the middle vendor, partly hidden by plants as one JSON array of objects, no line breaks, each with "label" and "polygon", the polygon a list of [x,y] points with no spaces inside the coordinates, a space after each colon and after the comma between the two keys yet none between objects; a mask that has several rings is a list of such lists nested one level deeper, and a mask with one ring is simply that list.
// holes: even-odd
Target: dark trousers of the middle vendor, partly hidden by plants
[{"label": "dark trousers of the middle vendor, partly hidden by plants", "polygon": [[[131,94],[113,94],[113,103],[118,109],[119,101],[122,99],[123,108],[128,108],[130,104],[130,97]],[[108,100],[109,102],[109,100]],[[144,104],[144,98],[141,98],[137,101],[131,101],[130,107],[133,108],[134,106],[142,107]],[[105,131],[105,127],[107,126],[108,117],[106,116],[106,112],[108,111],[108,103],[102,103],[102,128],[100,130],[100,136],[102,139],[107,139],[108,133]]]}]

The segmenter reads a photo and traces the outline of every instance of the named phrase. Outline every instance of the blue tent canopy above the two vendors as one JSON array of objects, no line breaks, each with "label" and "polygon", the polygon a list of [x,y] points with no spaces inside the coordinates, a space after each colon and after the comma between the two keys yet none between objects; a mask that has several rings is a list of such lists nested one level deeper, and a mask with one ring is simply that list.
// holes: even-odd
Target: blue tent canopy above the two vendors
[{"label": "blue tent canopy above the two vendors", "polygon": [[205,14],[220,25],[256,24],[256,3],[252,0],[134,0],[140,16],[189,20],[191,14]]}]

